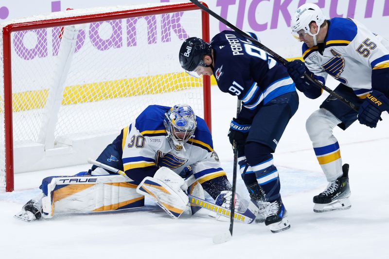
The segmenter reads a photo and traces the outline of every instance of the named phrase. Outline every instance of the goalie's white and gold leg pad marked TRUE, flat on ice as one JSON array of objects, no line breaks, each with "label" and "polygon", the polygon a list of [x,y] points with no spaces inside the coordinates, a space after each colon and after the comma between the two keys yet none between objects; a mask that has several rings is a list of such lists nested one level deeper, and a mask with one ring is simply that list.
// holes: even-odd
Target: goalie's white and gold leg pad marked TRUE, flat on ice
[{"label": "goalie's white and gold leg pad marked TRUE, flat on ice", "polygon": [[42,216],[56,213],[100,212],[144,206],[136,185],[119,174],[52,176],[42,182]]}]

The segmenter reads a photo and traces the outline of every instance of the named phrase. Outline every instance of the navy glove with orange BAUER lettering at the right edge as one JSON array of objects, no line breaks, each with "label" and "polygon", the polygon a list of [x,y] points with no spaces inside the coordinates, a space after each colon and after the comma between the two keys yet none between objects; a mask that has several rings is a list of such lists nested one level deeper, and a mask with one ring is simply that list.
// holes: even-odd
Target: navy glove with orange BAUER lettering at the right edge
[{"label": "navy glove with orange BAUER lettering at the right edge", "polygon": [[375,128],[383,111],[389,111],[389,99],[380,91],[373,90],[359,107],[358,121]]}]

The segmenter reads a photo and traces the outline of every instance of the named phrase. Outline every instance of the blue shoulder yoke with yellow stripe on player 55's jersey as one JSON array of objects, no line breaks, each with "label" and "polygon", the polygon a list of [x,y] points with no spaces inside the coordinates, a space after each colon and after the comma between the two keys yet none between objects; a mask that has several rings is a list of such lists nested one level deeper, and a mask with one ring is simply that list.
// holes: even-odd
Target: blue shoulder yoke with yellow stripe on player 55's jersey
[{"label": "blue shoulder yoke with yellow stripe on player 55's jersey", "polygon": [[328,32],[325,47],[347,46],[358,33],[356,24],[352,19],[335,17],[328,20]]}]

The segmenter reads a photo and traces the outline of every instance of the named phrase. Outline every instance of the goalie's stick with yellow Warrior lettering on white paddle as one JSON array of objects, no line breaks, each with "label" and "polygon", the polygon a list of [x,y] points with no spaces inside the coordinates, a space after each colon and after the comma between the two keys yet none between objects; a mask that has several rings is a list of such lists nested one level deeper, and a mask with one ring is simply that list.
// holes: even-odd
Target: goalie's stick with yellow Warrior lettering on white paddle
[{"label": "goalie's stick with yellow Warrior lettering on white paddle", "polygon": [[[88,163],[92,164],[92,165],[95,165],[95,166],[98,166],[98,167],[101,167],[101,168],[104,168],[104,169],[106,169],[108,171],[111,171],[113,173],[119,173],[119,174],[127,177],[128,181],[132,181],[131,178],[129,178],[123,171],[121,171],[119,169],[113,168],[111,166],[108,166],[106,164],[100,163],[100,162],[98,162],[96,160],[93,160],[93,159],[88,159]],[[185,182],[189,186],[189,185],[191,185],[191,184],[193,184],[195,182],[195,177],[191,176],[188,179],[186,179]],[[235,212],[232,215],[230,215],[231,214],[230,210],[226,209],[225,207],[218,206],[218,205],[216,205],[216,204],[214,204],[212,202],[200,199],[200,198],[198,198],[196,196],[193,196],[193,195],[190,195],[190,194],[188,194],[188,197],[189,197],[189,203],[192,204],[192,205],[195,205],[195,206],[198,206],[198,207],[202,207],[204,209],[216,212],[216,213],[218,213],[220,215],[223,215],[225,217],[230,217],[231,216],[231,218],[233,217],[233,218],[235,218],[235,220],[237,220],[239,222],[242,222],[242,223],[250,224],[250,223],[254,222],[254,219],[257,216],[255,212],[253,213],[249,209],[249,207],[246,209],[246,211],[244,211],[242,213]],[[157,202],[157,204],[159,205],[159,207],[161,207],[163,210],[165,210],[166,213],[168,213],[172,218],[175,218],[174,216],[171,215],[170,211],[168,211],[166,208],[161,206],[159,204],[159,202]]]}]

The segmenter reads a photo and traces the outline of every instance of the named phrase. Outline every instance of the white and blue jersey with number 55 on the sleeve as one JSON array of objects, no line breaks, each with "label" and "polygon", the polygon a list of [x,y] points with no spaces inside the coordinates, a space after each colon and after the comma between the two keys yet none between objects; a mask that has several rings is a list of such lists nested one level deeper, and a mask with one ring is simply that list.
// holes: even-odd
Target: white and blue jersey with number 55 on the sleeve
[{"label": "white and blue jersey with number 55 on the sleeve", "polygon": [[[389,68],[389,42],[351,18],[332,18],[328,22],[323,46],[308,48],[303,44],[305,65],[323,83],[330,74],[363,99],[372,88],[372,71]],[[373,79],[379,74],[373,74]]]}]

